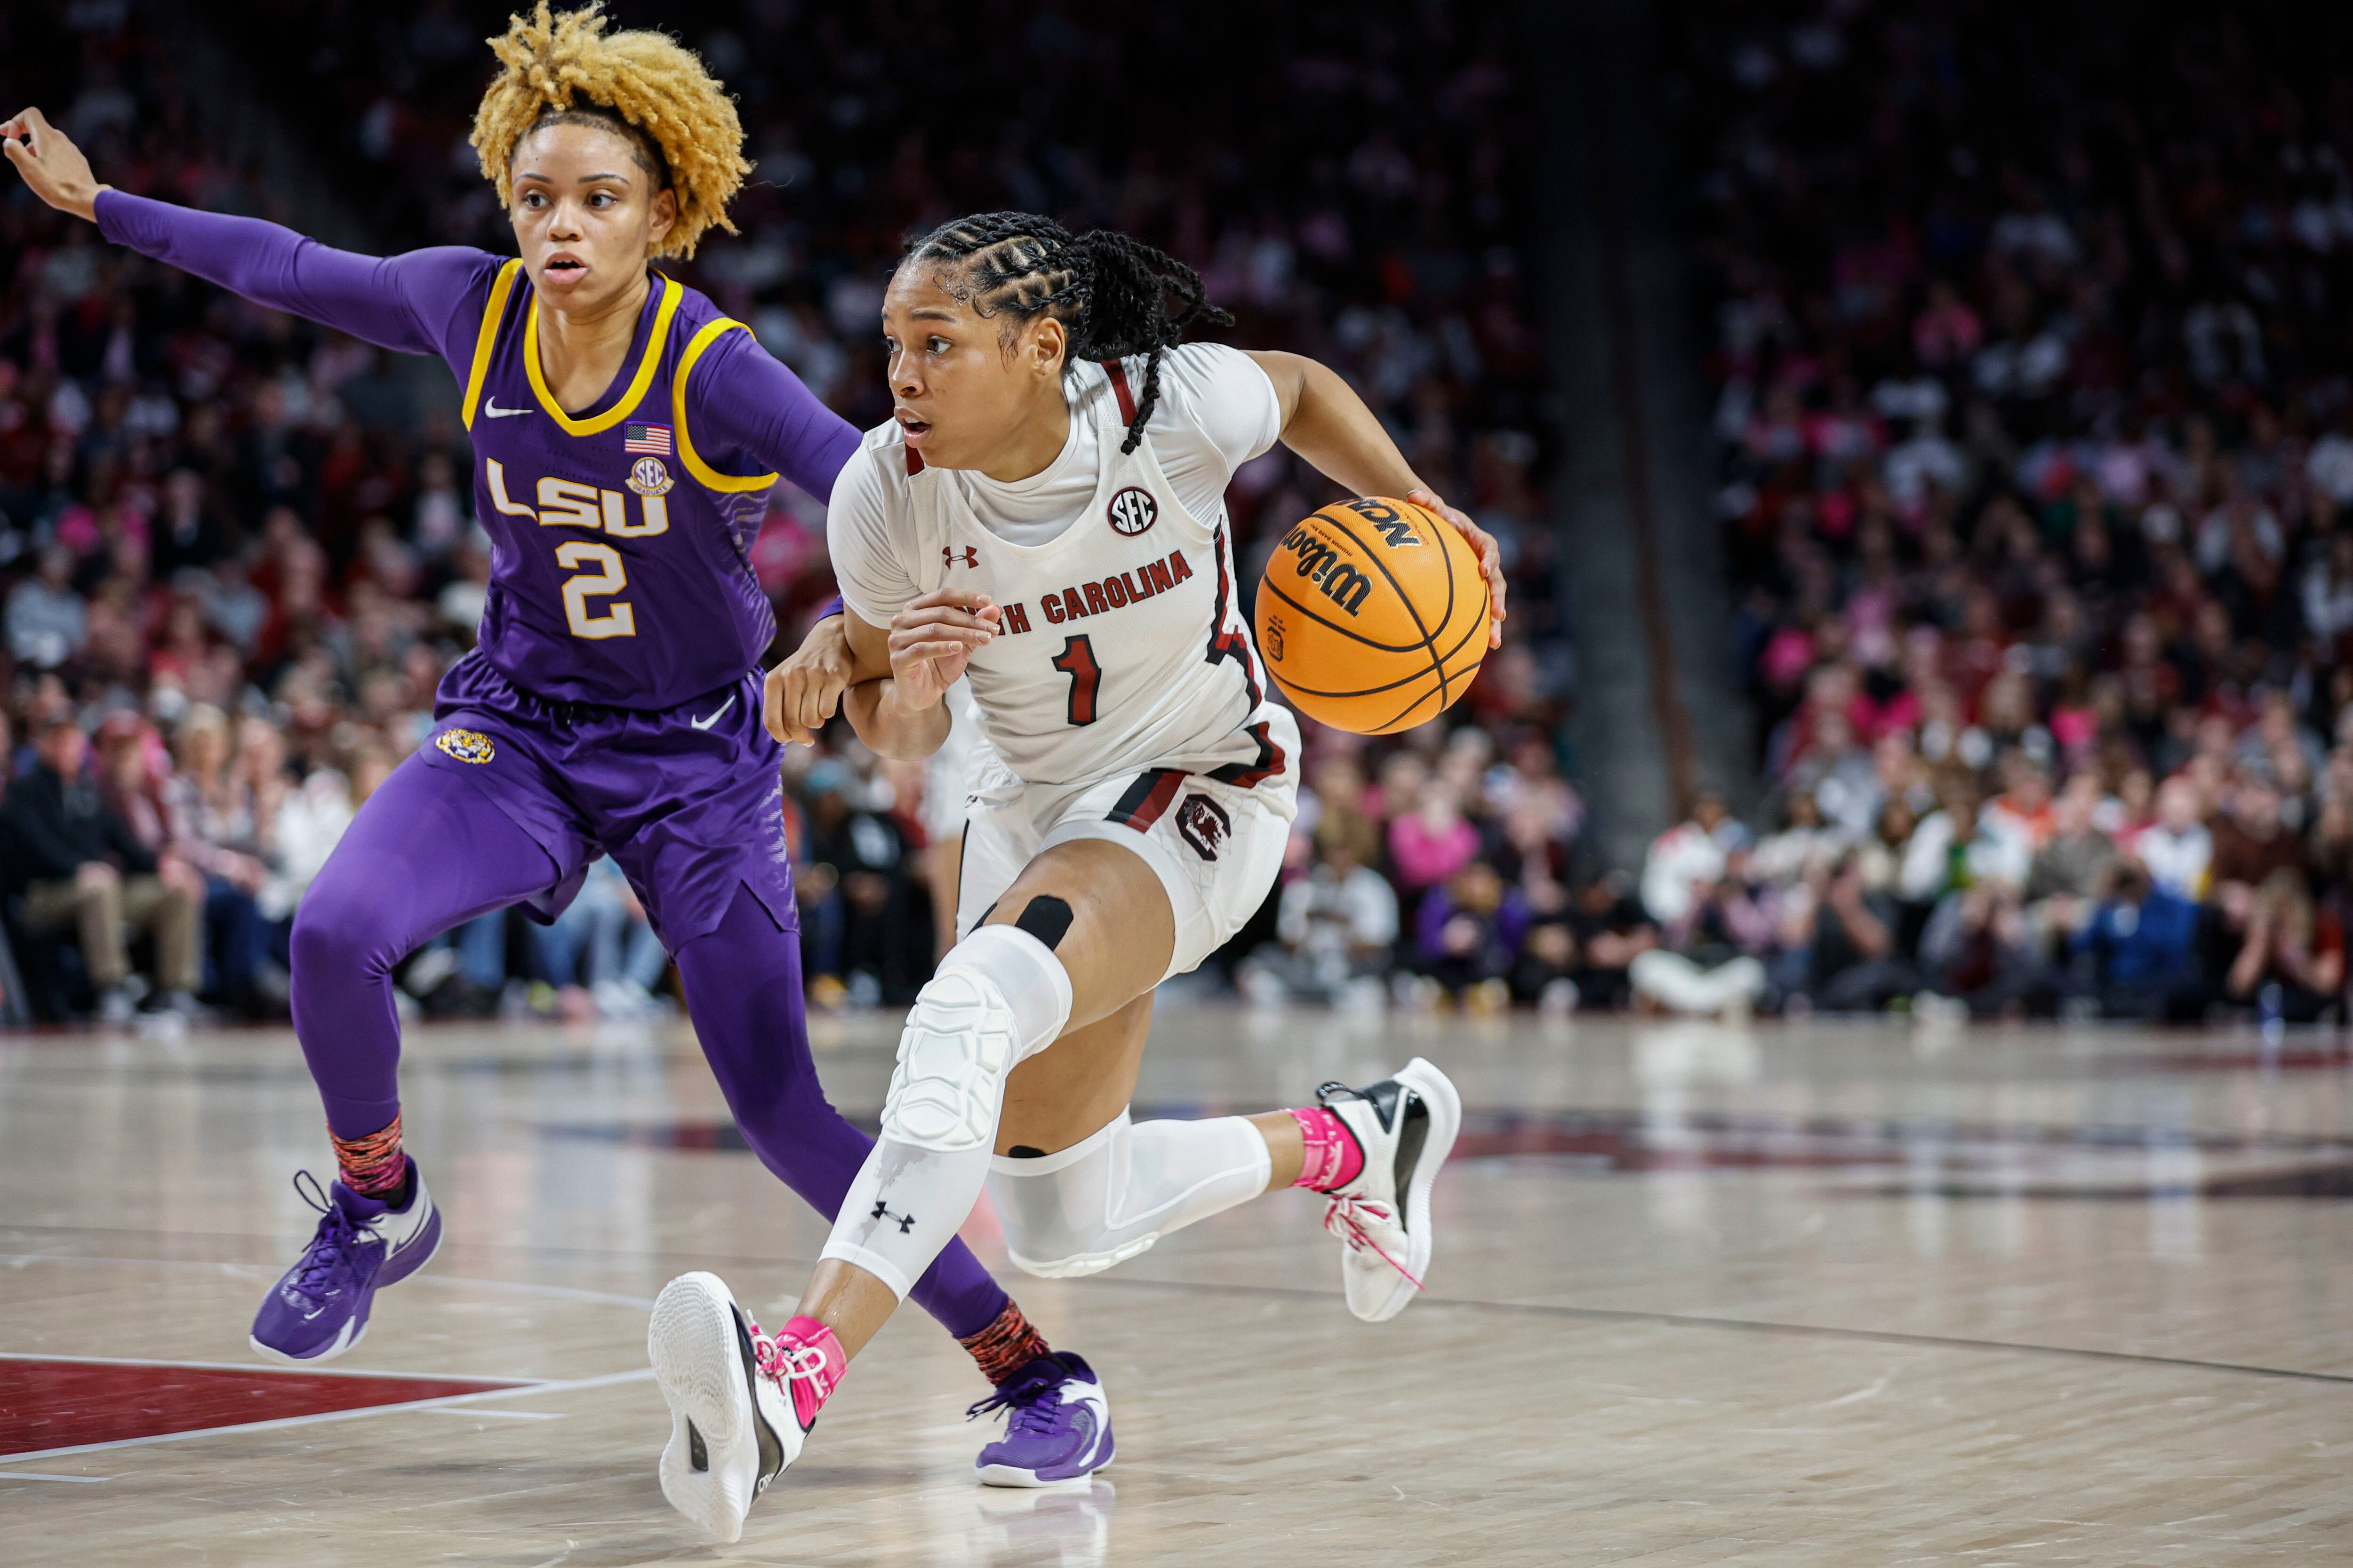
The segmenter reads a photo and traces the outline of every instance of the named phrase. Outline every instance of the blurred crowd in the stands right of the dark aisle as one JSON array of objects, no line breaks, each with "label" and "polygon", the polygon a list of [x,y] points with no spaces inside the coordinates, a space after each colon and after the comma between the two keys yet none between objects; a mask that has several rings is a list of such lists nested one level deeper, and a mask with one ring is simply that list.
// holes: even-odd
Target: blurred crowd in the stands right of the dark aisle
[{"label": "blurred crowd in the stands right of the dark aisle", "polygon": [[1769,795],[1758,832],[1704,802],[1654,846],[1661,971],[1826,1009],[2341,1013],[2346,19],[1682,21]]}]

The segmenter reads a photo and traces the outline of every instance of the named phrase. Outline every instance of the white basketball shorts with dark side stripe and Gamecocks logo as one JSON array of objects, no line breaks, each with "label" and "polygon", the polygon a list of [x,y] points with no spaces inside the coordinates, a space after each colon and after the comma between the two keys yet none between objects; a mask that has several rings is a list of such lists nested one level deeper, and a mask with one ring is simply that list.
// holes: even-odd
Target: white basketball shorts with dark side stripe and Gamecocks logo
[{"label": "white basketball shorts with dark side stripe and Gamecocks logo", "polygon": [[[1297,743],[1289,757],[1299,755]],[[1144,769],[1092,785],[1012,785],[972,797],[955,936],[967,936],[1040,851],[1104,839],[1144,856],[1176,914],[1167,973],[1181,976],[1226,945],[1266,903],[1299,816],[1299,769],[1221,769],[1233,783]]]}]

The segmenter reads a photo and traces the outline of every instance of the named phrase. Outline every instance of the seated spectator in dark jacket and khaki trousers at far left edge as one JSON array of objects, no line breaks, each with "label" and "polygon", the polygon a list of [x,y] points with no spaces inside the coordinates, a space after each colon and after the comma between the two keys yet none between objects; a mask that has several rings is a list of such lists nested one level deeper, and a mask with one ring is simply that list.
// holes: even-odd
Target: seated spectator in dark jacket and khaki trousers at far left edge
[{"label": "seated spectator in dark jacket and khaki trousers at far left edge", "polygon": [[181,863],[139,842],[85,776],[89,738],[71,717],[49,717],[38,762],[0,802],[0,870],[16,919],[33,936],[75,933],[99,992],[99,1016],[129,1020],[148,987],[129,964],[129,936],[155,943],[158,1011],[195,1011],[200,896]]}]

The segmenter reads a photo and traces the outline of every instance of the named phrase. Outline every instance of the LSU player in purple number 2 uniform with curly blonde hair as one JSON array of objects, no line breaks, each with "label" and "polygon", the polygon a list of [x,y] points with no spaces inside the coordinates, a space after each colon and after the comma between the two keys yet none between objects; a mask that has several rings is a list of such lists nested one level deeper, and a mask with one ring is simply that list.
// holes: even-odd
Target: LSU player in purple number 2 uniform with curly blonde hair
[{"label": "LSU player in purple number 2 uniform with curly blonde hair", "polygon": [[[734,103],[659,33],[598,7],[515,19],[473,146],[520,259],[374,259],[273,223],[99,186],[40,110],[9,162],[108,240],[395,348],[464,386],[475,517],[492,531],[480,642],[433,738],[367,799],[294,919],[294,1032],[339,1180],[252,1345],[325,1361],[416,1272],[440,1211],[400,1145],[391,973],[435,931],[515,903],[553,919],[609,853],[678,959],[687,1009],[760,1159],[826,1215],[868,1140],[826,1103],[802,1023],[779,743],[753,672],[774,621],[746,548],[776,475],[826,496],[854,428],[708,299],[649,270],[687,256],[751,169]],[[301,1185],[299,1178],[296,1185]],[[915,1298],[998,1382],[1047,1356],[962,1248]],[[1056,1363],[1059,1366],[1059,1363]]]}]

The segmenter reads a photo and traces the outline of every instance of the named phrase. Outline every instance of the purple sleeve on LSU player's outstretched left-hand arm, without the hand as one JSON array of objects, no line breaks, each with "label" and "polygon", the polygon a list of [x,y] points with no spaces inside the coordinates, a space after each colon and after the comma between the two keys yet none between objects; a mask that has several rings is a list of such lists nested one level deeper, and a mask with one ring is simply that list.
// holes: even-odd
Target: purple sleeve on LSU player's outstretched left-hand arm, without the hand
[{"label": "purple sleeve on LSU player's outstretched left-hand arm, without the hand", "polygon": [[99,193],[99,233],[256,306],[412,355],[449,357],[452,336],[466,339],[459,353],[471,355],[471,331],[452,334],[452,327],[459,315],[480,310],[475,289],[499,268],[489,252],[456,244],[355,256],[261,219],[151,202],[122,190]]}]

